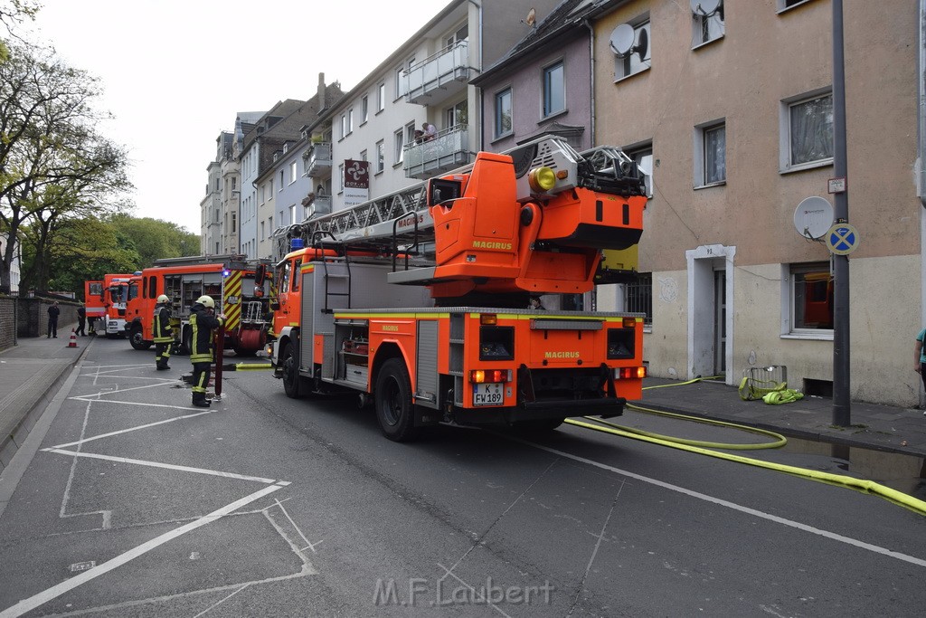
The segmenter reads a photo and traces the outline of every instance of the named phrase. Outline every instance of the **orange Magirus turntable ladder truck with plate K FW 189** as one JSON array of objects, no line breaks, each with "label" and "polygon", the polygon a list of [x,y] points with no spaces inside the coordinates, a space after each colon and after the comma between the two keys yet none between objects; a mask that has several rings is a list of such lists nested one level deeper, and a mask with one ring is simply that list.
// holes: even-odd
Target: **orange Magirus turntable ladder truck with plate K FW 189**
[{"label": "orange Magirus turntable ladder truck with plate K FW 189", "polygon": [[274,375],[289,397],[357,392],[397,441],[618,416],[642,395],[644,316],[525,308],[592,290],[645,203],[618,149],[544,137],[279,231]]}]

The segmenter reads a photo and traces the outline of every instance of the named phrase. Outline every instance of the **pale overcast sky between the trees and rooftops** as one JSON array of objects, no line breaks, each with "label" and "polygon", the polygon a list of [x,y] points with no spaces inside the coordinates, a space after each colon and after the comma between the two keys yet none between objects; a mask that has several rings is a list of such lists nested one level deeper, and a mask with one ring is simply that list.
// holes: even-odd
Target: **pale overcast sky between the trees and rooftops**
[{"label": "pale overcast sky between the trees and rooftops", "polygon": [[239,111],[344,92],[449,0],[40,0],[31,38],[98,77],[131,160],[136,217],[200,233],[206,166]]}]

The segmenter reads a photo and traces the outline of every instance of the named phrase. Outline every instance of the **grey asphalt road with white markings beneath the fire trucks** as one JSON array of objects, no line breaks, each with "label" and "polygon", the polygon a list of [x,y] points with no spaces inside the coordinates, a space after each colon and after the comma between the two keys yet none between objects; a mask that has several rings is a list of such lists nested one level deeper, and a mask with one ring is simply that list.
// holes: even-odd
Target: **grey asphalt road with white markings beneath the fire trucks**
[{"label": "grey asphalt road with white markings beneath the fire trucks", "polygon": [[[880,498],[568,425],[396,444],[355,399],[289,399],[269,372],[226,373],[202,410],[187,359],[154,365],[94,341],[49,409],[0,517],[0,617],[920,615],[926,601],[926,518]],[[826,448],[747,455],[845,472]]]}]

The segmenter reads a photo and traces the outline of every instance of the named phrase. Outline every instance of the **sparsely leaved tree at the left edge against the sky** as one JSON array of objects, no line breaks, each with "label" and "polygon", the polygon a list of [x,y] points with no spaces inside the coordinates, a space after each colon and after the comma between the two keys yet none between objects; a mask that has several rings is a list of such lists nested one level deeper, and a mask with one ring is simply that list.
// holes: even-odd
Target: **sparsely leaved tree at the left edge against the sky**
[{"label": "sparsely leaved tree at the left edge against the sky", "polygon": [[[124,204],[131,188],[127,154],[96,131],[97,82],[52,52],[10,46],[0,63],[0,232],[32,255],[24,280],[47,287],[59,230]],[[30,245],[27,247],[26,245]],[[0,256],[0,292],[8,292],[14,243]]]}]

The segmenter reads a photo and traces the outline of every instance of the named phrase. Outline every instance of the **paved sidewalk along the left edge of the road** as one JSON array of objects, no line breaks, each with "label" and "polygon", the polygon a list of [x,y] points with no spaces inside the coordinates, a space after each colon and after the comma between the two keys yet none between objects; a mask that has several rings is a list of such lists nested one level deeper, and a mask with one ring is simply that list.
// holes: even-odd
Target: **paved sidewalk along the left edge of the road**
[{"label": "paved sidewalk along the left edge of the road", "polygon": [[0,351],[0,473],[93,339],[78,337],[77,347],[68,347],[69,325],[57,338],[20,337]]}]

